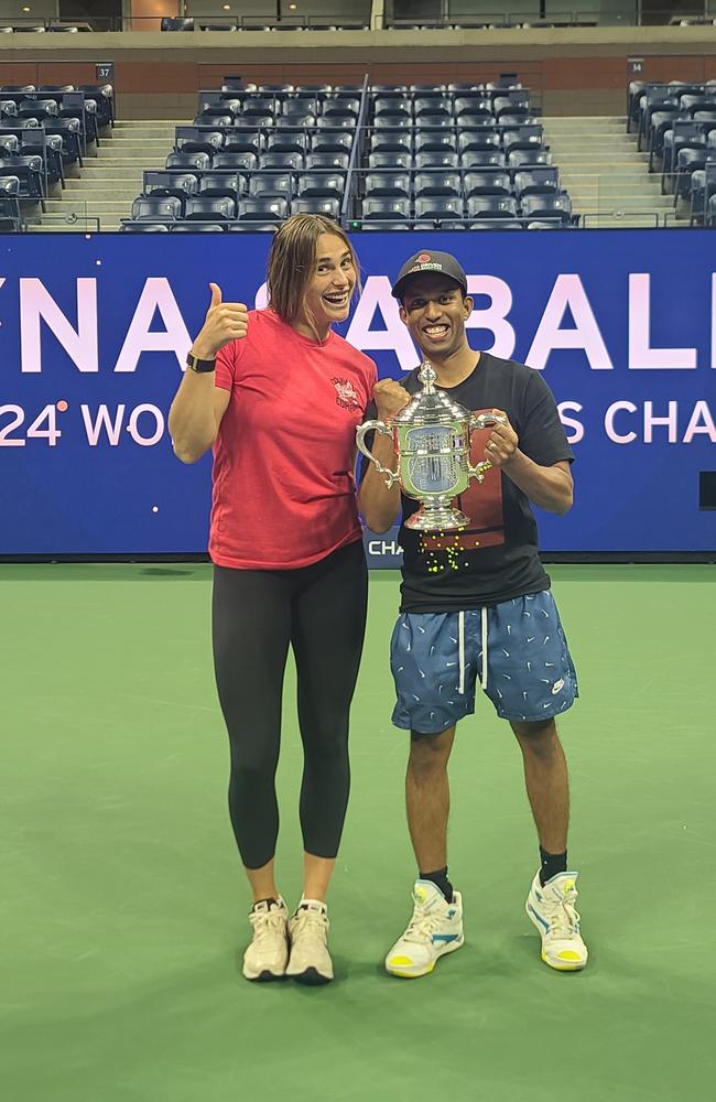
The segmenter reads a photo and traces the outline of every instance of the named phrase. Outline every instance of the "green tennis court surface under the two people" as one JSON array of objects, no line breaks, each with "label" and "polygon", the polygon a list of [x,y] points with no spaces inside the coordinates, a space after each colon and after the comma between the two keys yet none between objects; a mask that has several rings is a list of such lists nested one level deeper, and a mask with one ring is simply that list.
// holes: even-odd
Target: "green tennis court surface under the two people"
[{"label": "green tennis court surface under the two people", "polygon": [[[562,722],[587,970],[540,962],[536,840],[507,724],[478,701],[452,767],[466,944],[382,972],[410,914],[397,575],[373,572],[330,895],[337,979],[251,985],[205,565],[4,565],[6,1102],[713,1099],[716,568],[555,566],[582,700]],[[286,678],[279,884],[300,894]]]}]

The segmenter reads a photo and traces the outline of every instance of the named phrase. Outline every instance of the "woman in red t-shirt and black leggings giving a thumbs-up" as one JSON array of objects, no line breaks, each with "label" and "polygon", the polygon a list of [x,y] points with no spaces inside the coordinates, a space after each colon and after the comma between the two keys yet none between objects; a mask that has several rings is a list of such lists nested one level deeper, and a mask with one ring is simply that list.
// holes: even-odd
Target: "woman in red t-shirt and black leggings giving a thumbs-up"
[{"label": "woman in red t-shirt and black leggings giving a thumbs-up", "polygon": [[[326,894],[348,802],[348,712],[362,649],[367,570],[352,478],[371,359],[332,331],[358,283],[350,241],[319,215],[282,224],[269,306],[211,304],[170,412],[186,463],[214,445],[209,552],[229,811],[253,894],[249,980],[327,983]],[[303,896],[290,917],[274,878],[274,776],[289,646],[304,749]]]}]

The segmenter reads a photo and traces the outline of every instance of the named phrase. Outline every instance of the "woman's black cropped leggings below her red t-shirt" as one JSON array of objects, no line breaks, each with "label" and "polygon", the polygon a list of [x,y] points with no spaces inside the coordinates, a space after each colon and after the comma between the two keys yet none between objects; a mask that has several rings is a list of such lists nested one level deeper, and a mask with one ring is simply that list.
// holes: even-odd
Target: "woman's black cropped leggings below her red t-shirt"
[{"label": "woman's black cropped leggings below her red t-shirt", "polygon": [[304,850],[335,857],[348,804],[348,711],[366,628],[362,542],[299,570],[214,568],[214,667],[229,733],[231,825],[247,868],[273,857],[289,645],[297,672]]}]

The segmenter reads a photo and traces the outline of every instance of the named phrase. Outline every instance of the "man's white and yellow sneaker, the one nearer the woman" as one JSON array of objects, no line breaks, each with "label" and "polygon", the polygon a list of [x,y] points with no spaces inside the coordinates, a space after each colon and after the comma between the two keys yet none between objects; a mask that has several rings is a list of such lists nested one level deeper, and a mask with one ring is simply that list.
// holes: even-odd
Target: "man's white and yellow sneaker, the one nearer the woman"
[{"label": "man's white and yellow sneaker, the one nearer the woman", "polygon": [[463,898],[453,892],[453,901],[432,880],[416,880],[413,888],[413,917],[402,938],[386,957],[391,975],[412,980],[427,975],[445,953],[459,949],[463,934]]}]

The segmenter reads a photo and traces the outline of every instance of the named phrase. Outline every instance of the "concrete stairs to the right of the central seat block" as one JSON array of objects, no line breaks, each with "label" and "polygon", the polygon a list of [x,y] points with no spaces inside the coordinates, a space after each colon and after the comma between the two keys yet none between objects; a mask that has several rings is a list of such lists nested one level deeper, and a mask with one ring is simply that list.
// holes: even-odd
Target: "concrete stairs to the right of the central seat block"
[{"label": "concrete stairs to the right of the central seat block", "polygon": [[649,172],[649,155],[637,152],[637,136],[625,117],[545,118],[544,140],[573,209],[589,229],[684,225],[673,198],[661,194]]}]

